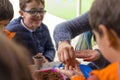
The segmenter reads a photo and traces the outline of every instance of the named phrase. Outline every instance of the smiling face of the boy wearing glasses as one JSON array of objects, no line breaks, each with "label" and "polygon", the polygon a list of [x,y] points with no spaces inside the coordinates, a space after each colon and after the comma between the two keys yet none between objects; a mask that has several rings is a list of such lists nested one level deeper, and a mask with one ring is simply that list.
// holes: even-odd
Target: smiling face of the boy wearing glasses
[{"label": "smiling face of the boy wearing glasses", "polygon": [[24,19],[24,24],[32,29],[35,30],[38,28],[43,20],[45,10],[44,5],[41,3],[38,4],[36,1],[32,1],[26,4],[26,8],[24,11],[20,11],[21,17]]}]

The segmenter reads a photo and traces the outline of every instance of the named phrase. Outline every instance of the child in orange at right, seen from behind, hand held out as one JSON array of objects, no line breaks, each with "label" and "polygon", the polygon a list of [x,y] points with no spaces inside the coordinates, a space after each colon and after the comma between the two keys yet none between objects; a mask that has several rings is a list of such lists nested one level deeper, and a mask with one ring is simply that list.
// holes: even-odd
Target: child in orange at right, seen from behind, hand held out
[{"label": "child in orange at right, seen from behind, hand held out", "polygon": [[[106,68],[93,70],[87,80],[120,80],[120,0],[95,0],[89,14],[90,24],[103,56],[111,62]],[[101,64],[102,65],[102,64]],[[71,80],[86,80],[76,66],[60,70]]]}]

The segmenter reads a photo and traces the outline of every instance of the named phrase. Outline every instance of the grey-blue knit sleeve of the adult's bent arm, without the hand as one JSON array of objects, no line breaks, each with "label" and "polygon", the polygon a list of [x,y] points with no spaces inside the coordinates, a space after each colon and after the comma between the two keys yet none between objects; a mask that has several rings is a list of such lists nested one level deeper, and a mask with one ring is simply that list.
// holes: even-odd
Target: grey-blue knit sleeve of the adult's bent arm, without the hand
[{"label": "grey-blue knit sleeve of the adult's bent arm, without the hand", "polygon": [[58,24],[54,30],[54,40],[58,47],[58,42],[70,40],[82,32],[90,30],[88,12],[72,20]]}]

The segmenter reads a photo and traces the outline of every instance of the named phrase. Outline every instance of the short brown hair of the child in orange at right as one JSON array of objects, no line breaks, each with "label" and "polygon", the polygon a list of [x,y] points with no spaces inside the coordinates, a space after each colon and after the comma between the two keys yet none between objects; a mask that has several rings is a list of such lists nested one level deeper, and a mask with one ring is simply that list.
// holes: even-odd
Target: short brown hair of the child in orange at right
[{"label": "short brown hair of the child in orange at right", "polygon": [[102,35],[100,24],[120,37],[120,0],[95,0],[89,13],[91,27]]}]

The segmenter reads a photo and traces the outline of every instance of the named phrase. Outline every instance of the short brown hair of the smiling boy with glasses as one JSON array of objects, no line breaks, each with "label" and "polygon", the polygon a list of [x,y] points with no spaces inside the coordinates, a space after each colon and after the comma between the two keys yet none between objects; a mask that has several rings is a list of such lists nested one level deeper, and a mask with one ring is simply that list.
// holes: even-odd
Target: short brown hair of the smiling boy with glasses
[{"label": "short brown hair of the smiling boy with glasses", "polygon": [[26,7],[26,3],[32,2],[32,1],[36,1],[38,4],[42,3],[43,5],[45,5],[45,1],[44,0],[19,0],[19,6],[21,10],[24,10]]}]

